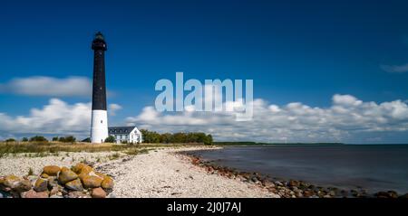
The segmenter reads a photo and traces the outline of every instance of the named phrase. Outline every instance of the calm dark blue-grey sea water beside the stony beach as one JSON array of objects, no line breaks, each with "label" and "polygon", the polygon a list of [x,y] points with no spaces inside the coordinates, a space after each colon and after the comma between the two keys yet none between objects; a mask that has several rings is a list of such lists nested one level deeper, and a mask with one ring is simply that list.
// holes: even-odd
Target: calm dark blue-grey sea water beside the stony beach
[{"label": "calm dark blue-grey sea water beside the stony beach", "polygon": [[408,193],[408,146],[255,146],[198,151],[205,160],[241,171],[370,193]]}]

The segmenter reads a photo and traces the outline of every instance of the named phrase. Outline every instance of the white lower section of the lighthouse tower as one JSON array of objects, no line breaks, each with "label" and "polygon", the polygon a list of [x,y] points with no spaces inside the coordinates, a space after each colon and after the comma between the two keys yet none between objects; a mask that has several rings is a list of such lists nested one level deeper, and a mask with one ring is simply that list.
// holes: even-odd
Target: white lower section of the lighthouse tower
[{"label": "white lower section of the lighthouse tower", "polygon": [[92,110],[91,142],[103,143],[108,137],[108,112],[106,110]]}]

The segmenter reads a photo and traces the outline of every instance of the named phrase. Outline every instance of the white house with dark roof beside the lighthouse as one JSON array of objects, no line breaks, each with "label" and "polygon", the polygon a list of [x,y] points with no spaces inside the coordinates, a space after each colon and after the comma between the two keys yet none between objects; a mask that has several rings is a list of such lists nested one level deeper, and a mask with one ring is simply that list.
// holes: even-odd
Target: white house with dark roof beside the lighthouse
[{"label": "white house with dark roof beside the lighthouse", "polygon": [[109,127],[109,136],[114,136],[116,143],[141,143],[141,131],[137,127]]}]

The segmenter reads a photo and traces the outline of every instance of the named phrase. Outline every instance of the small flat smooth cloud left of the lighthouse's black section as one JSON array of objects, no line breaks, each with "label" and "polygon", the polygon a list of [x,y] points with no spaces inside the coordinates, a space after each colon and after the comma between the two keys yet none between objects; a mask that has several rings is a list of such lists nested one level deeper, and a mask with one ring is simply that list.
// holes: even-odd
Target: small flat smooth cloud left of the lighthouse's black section
[{"label": "small flat smooth cloud left of the lighthouse's black section", "polygon": [[15,78],[0,84],[0,93],[13,93],[27,96],[85,96],[92,94],[92,82],[86,77],[67,77],[63,79],[34,76]]}]

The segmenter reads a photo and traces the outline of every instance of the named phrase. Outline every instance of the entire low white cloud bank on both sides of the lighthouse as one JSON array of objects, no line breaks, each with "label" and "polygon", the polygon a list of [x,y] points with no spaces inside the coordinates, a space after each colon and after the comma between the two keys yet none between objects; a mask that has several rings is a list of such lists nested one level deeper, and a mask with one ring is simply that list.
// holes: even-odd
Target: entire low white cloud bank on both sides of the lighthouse
[{"label": "entire low white cloud bank on both sides of the lighthouse", "polygon": [[[354,142],[364,135],[365,142],[386,141],[392,133],[408,133],[408,104],[403,100],[383,103],[362,101],[351,95],[336,94],[327,108],[301,102],[284,106],[255,99],[251,121],[236,121],[233,112],[158,112],[145,107],[129,125],[160,132],[203,131],[217,140],[259,142]],[[120,105],[111,104],[109,109]],[[28,115],[12,117],[0,112],[0,136],[56,134],[89,136],[91,103],[68,104],[50,99],[43,108],[32,108]],[[374,139],[375,138],[375,139]]]}]

